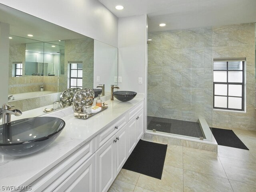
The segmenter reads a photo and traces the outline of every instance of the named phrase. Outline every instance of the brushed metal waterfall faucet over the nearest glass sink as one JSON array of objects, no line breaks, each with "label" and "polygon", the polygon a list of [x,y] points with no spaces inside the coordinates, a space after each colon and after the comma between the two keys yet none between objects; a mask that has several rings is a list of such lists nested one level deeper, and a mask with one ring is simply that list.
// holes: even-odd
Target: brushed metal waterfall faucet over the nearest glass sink
[{"label": "brushed metal waterfall faucet over the nearest glass sink", "polygon": [[2,123],[11,122],[11,115],[20,116],[22,112],[18,109],[12,109],[13,106],[8,104],[3,104],[2,108],[0,108],[0,119],[2,118]]}]

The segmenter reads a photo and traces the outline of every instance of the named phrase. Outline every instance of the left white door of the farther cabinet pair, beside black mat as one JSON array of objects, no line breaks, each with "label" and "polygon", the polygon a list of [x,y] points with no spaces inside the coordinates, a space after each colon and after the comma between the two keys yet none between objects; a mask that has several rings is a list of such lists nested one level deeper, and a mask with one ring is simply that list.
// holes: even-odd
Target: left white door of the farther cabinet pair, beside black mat
[{"label": "left white door of the farther cabinet pair, beside black mat", "polygon": [[127,124],[128,135],[128,157],[136,146],[136,117],[132,118]]}]

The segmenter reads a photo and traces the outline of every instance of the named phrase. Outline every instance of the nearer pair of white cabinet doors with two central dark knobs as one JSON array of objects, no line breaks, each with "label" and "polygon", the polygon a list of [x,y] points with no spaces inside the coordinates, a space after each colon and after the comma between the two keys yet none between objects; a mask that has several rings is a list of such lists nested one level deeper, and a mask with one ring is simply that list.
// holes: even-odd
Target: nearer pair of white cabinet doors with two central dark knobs
[{"label": "nearer pair of white cabinet doors with two central dark knobs", "polygon": [[126,125],[96,151],[96,192],[106,192],[127,159]]}]

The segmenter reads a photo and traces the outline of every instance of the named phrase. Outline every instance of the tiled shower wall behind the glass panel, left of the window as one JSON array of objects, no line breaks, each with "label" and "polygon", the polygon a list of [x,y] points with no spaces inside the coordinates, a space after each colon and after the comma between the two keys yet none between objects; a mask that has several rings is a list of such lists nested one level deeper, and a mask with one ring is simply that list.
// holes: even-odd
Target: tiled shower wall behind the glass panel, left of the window
[{"label": "tiled shower wall behind the glass panel, left of the window", "polygon": [[212,121],[212,29],[148,34],[148,115]]}]

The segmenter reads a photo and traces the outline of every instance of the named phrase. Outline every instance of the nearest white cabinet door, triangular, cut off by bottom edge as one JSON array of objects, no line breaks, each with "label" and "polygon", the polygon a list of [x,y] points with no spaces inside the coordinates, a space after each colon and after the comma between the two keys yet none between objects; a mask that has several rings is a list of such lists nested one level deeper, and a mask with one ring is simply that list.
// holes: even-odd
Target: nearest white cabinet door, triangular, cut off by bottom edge
[{"label": "nearest white cabinet door, triangular, cut off by bottom edge", "polygon": [[92,155],[54,190],[54,192],[77,191],[95,191],[95,155]]}]

